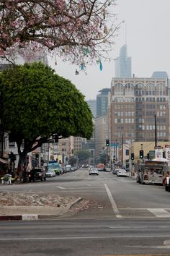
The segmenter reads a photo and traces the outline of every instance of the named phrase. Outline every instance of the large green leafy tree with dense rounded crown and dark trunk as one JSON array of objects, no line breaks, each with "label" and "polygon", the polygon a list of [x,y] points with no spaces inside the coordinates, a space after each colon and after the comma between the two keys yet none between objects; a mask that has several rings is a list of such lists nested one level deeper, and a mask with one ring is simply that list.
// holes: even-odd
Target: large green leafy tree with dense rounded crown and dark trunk
[{"label": "large green leafy tree with dense rounded crown and dark trunk", "polygon": [[1,125],[17,142],[19,166],[27,153],[52,135],[90,138],[92,114],[69,80],[41,63],[18,65],[0,74]]}]

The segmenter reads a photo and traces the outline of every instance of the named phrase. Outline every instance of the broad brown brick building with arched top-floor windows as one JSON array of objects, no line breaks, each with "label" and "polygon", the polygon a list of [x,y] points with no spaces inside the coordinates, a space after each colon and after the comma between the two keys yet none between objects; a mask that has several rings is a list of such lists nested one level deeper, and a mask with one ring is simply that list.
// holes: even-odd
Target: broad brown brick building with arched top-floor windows
[{"label": "broad brown brick building with arched top-floor windows", "polygon": [[110,102],[112,141],[169,140],[168,79],[113,78]]}]

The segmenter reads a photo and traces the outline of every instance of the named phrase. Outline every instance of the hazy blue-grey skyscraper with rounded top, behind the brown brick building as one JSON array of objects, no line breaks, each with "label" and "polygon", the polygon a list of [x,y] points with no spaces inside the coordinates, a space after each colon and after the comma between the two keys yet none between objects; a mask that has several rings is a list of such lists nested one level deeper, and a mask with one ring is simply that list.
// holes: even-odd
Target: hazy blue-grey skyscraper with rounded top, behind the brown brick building
[{"label": "hazy blue-grey skyscraper with rounded top, behind the brown brick building", "polygon": [[115,59],[115,77],[132,77],[131,57],[126,44],[120,48],[120,56]]}]

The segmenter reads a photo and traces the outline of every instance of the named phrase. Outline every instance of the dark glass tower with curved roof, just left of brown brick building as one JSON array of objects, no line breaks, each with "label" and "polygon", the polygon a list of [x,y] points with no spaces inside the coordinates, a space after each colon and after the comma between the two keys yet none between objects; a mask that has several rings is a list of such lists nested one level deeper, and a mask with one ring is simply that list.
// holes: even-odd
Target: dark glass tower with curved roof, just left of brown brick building
[{"label": "dark glass tower with curved roof, just left of brown brick building", "polygon": [[107,116],[108,93],[110,89],[104,88],[99,90],[97,95],[97,117]]}]

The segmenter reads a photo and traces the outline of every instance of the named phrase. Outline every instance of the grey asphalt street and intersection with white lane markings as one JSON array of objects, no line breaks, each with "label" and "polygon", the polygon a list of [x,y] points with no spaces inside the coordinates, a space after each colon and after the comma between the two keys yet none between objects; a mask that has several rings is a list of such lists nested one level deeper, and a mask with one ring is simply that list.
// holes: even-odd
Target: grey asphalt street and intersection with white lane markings
[{"label": "grey asphalt street and intersection with white lane markings", "polygon": [[1,221],[1,255],[170,255],[170,193],[87,168],[1,191],[83,197],[56,220]]}]

